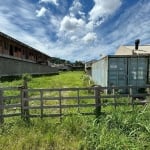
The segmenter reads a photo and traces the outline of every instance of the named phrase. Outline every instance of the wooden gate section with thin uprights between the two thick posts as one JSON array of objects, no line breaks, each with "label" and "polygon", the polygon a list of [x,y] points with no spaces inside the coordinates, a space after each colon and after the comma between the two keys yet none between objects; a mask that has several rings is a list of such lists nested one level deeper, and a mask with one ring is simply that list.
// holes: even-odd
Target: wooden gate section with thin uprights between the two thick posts
[{"label": "wooden gate section with thin uprights between the two thick posts", "polygon": [[[95,88],[23,89],[23,117],[57,117],[75,113],[94,115]],[[99,92],[97,92],[99,93]]]}]

